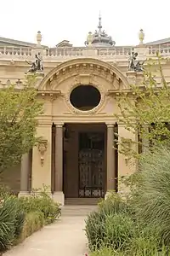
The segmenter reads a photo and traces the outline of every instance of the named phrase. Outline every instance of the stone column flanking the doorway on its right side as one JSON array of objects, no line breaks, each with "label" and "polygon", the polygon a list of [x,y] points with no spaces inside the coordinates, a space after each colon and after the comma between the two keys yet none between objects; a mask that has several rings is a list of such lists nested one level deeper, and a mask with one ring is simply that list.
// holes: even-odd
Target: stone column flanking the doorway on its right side
[{"label": "stone column flanking the doorway on its right side", "polygon": [[107,125],[107,193],[116,189],[114,125]]}]

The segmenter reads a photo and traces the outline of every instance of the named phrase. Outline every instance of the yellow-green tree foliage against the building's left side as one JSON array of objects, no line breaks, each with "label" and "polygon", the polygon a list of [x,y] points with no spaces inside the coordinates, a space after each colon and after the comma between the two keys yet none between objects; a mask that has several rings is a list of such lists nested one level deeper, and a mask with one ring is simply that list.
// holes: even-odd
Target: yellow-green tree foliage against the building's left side
[{"label": "yellow-green tree foliage against the building's left side", "polygon": [[20,162],[36,143],[37,116],[42,103],[34,88],[36,77],[26,79],[22,90],[13,85],[0,90],[0,172]]}]

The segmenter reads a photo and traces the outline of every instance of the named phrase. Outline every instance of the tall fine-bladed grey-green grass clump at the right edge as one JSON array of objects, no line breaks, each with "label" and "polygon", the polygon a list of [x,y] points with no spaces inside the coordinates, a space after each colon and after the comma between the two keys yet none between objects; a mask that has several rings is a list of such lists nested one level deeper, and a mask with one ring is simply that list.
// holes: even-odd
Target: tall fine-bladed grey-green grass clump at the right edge
[{"label": "tall fine-bladed grey-green grass clump at the right edge", "polygon": [[136,197],[136,218],[156,230],[160,242],[170,246],[170,147],[154,148],[141,161],[143,183]]}]

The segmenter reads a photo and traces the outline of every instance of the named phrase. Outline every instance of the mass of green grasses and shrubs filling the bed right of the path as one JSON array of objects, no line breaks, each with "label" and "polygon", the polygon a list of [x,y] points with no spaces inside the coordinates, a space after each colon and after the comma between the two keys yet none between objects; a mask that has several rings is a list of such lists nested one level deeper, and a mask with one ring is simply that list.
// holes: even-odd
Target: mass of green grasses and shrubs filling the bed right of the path
[{"label": "mass of green grasses and shrubs filling the bed right of the path", "polygon": [[92,256],[170,255],[170,147],[152,147],[128,178],[130,195],[111,195],[88,216]]}]

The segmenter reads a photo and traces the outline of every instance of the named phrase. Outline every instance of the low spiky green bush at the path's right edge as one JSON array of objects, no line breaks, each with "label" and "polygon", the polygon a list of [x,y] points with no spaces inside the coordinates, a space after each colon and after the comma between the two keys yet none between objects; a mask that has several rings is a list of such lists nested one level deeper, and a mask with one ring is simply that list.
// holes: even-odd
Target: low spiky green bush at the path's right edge
[{"label": "low spiky green bush at the path's right edge", "polygon": [[133,219],[128,213],[126,202],[121,195],[113,193],[107,200],[99,203],[97,212],[88,215],[85,229],[88,246],[91,250],[111,244],[115,248],[124,247],[132,237],[133,228]]}]

